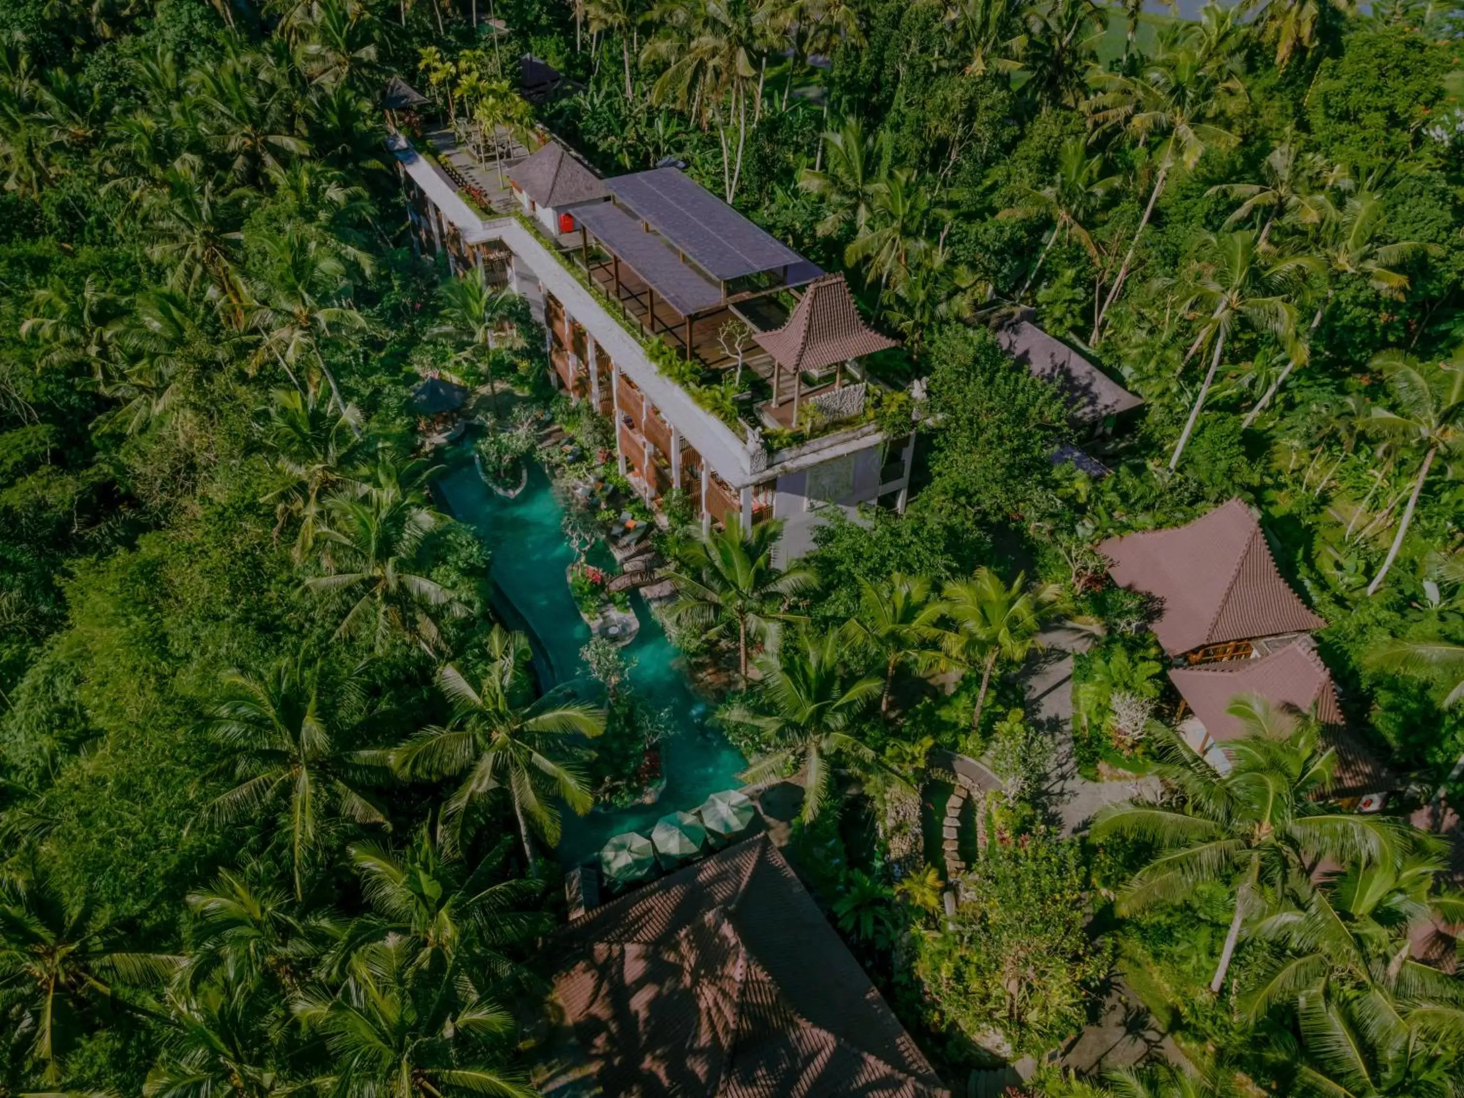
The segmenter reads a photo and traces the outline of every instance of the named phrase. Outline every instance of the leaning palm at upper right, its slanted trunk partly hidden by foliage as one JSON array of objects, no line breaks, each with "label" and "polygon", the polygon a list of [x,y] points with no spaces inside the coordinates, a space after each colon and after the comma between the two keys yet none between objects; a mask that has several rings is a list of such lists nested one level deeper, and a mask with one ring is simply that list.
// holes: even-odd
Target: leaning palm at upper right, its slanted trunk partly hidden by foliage
[{"label": "leaning palm at upper right, its slanted trunk partly hidden by foliage", "polygon": [[[1341,209],[1325,193],[1300,199],[1296,220],[1318,227],[1309,250],[1315,255],[1315,264],[1326,281],[1326,293],[1312,315],[1307,332],[1315,332],[1322,325],[1322,316],[1337,296],[1338,285],[1347,278],[1366,278],[1367,284],[1382,296],[1403,300],[1408,277],[1394,268],[1427,252],[1429,247],[1413,240],[1383,243],[1379,240],[1385,230],[1383,218],[1382,196],[1370,190],[1350,196]],[[1296,366],[1294,359],[1285,365],[1246,414],[1243,427],[1255,422]]]}]

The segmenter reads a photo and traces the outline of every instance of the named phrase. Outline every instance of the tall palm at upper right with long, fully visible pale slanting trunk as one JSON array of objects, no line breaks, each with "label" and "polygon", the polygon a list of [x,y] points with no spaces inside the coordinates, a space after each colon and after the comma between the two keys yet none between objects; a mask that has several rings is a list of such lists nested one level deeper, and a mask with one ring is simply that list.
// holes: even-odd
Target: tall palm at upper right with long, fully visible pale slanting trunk
[{"label": "tall palm at upper right with long, fully visible pale slanting trunk", "polygon": [[1083,108],[1095,124],[1121,126],[1140,143],[1158,135],[1164,135],[1164,139],[1149,157],[1151,164],[1158,168],[1149,187],[1149,201],[1108,288],[1108,297],[1094,318],[1089,344],[1098,343],[1102,335],[1104,319],[1123,291],[1139,237],[1154,215],[1154,205],[1164,193],[1170,174],[1176,168],[1193,170],[1208,148],[1230,148],[1236,143],[1236,135],[1214,124],[1211,119],[1221,114],[1227,95],[1243,92],[1236,78],[1203,66],[1192,48],[1164,51],[1146,61],[1136,76],[1095,73],[1094,81],[1101,91]]}]

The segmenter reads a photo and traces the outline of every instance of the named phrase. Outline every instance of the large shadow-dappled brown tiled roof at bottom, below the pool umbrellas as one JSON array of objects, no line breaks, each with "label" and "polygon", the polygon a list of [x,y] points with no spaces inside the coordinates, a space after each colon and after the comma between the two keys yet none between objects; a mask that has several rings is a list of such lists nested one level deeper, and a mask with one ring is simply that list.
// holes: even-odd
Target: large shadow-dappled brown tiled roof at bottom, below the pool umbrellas
[{"label": "large shadow-dappled brown tiled roof at bottom, below the pool umbrellas", "polygon": [[766,836],[591,911],[550,949],[572,1034],[545,1095],[949,1098]]}]

